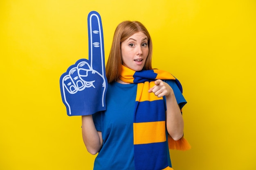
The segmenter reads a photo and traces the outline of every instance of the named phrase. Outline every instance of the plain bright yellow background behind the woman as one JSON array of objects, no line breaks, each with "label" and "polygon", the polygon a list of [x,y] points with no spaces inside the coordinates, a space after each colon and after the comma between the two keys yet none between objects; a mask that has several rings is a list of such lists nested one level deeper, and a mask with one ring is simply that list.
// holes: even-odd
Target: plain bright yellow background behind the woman
[{"label": "plain bright yellow background behind the woman", "polygon": [[182,82],[192,149],[171,151],[175,170],[256,169],[255,0],[1,0],[1,170],[92,169],[59,78],[88,58],[93,10],[106,61],[117,24],[139,20],[153,39],[153,67]]}]

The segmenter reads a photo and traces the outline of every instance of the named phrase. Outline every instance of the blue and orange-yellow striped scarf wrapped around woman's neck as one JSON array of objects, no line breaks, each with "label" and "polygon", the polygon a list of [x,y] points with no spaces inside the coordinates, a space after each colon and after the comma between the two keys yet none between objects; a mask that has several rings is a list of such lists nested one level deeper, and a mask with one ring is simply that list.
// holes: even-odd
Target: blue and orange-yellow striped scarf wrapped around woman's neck
[{"label": "blue and orange-yellow striped scarf wrapped around woman's neck", "polygon": [[[133,118],[134,162],[137,170],[168,170],[169,149],[187,150],[189,143],[182,137],[174,141],[166,130],[164,99],[148,90],[157,79],[173,80],[182,92],[180,82],[163,70],[136,72],[122,65],[120,80],[137,84]],[[168,137],[167,137],[168,136]],[[168,139],[168,140],[167,140]]]}]

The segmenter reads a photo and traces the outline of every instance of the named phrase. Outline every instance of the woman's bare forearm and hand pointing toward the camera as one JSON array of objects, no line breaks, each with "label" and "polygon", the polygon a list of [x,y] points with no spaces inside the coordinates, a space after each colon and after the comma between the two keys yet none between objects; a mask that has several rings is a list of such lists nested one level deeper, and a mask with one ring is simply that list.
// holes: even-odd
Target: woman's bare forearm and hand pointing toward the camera
[{"label": "woman's bare forearm and hand pointing toward the camera", "polygon": [[148,92],[153,92],[157,97],[166,96],[167,131],[174,140],[179,140],[180,138],[182,138],[184,131],[184,122],[173,89],[162,80],[156,80],[155,86],[150,88]]}]

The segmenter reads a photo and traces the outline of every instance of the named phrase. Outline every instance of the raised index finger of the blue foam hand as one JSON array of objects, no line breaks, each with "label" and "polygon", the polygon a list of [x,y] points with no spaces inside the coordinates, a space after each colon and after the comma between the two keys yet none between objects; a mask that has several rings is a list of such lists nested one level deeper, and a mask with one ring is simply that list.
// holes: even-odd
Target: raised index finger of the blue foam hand
[{"label": "raised index finger of the blue foam hand", "polygon": [[88,14],[89,62],[101,75],[105,72],[105,54],[101,16],[96,11]]}]

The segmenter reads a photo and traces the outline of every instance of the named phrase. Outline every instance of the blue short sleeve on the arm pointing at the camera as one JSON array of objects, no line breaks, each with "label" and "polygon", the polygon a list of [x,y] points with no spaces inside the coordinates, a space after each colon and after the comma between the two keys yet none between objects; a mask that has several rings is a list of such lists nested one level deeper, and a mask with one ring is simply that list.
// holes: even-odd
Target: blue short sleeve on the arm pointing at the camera
[{"label": "blue short sleeve on the arm pointing at the camera", "polygon": [[[168,83],[168,85],[171,86],[171,88],[173,89],[175,98],[177,100],[177,103],[180,106],[180,109],[182,109],[182,107],[184,107],[184,105],[186,105],[187,102],[182,92],[180,91],[179,87],[177,86],[174,80],[164,80],[164,82]],[[165,96],[164,96],[164,100],[166,100]]]}]

